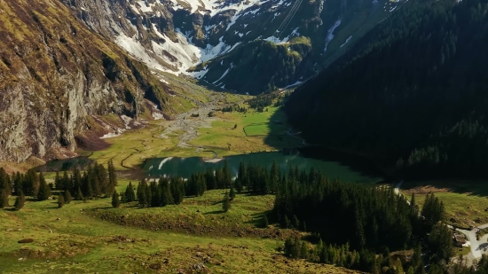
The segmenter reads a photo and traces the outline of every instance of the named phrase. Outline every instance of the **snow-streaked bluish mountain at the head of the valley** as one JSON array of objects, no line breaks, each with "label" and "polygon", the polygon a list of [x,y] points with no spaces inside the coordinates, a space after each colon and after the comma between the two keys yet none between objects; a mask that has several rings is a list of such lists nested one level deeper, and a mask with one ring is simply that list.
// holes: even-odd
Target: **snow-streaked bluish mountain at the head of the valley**
[{"label": "snow-streaked bluish mountain at the head of the valley", "polygon": [[149,67],[251,94],[303,82],[402,4],[386,0],[64,2],[88,27]]}]

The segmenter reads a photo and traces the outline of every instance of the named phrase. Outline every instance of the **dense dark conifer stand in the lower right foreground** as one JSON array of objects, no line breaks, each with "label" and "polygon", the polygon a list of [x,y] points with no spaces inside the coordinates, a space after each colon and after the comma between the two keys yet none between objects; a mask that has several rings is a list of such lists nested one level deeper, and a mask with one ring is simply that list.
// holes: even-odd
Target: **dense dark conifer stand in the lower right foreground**
[{"label": "dense dark conifer stand in the lower right foreground", "polygon": [[[390,186],[345,183],[314,169],[306,173],[297,168],[288,168],[277,185],[275,220],[284,228],[308,231],[319,239],[315,247],[287,239],[285,253],[292,258],[373,273],[412,267],[412,273],[421,274],[424,263],[441,268],[453,256],[453,231],[443,223],[445,207],[434,194],[426,197],[420,209],[414,195],[406,200]],[[390,250],[421,248],[420,243],[428,254],[425,260],[404,263],[402,269],[389,261]]]}]

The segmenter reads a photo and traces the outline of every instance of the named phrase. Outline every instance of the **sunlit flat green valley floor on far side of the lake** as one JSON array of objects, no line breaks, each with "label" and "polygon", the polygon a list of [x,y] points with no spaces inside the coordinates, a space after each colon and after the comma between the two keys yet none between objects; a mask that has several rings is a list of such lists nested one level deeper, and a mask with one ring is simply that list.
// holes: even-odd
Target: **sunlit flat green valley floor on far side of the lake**
[{"label": "sunlit flat green valley floor on far side of the lake", "polygon": [[[231,94],[226,97],[226,102],[235,102],[238,99]],[[253,110],[249,110],[246,114],[216,112],[216,121],[211,123],[211,128],[197,129],[198,137],[190,141],[190,144],[209,147],[209,150],[216,152],[218,157],[271,152],[283,147],[301,145],[300,139],[288,136],[285,133],[287,128],[274,124],[272,119],[286,121],[285,114],[276,107],[268,107],[268,112],[264,113]],[[103,164],[108,160],[114,160],[115,168],[127,170],[137,167],[147,158],[213,157],[213,153],[196,151],[192,147],[178,147],[183,131],[174,131],[162,136],[172,122],[174,121],[151,121],[143,129],[130,130],[119,137],[107,138],[106,142],[111,146],[93,152],[90,158]],[[234,129],[235,125],[237,125],[236,129]],[[86,154],[86,152],[80,153]]]}]

